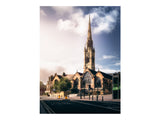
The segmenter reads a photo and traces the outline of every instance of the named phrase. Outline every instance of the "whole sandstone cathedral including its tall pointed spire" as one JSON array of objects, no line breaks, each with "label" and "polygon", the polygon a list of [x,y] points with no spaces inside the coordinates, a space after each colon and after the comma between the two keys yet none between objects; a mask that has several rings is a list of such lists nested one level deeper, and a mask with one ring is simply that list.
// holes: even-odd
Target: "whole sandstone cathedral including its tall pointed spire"
[{"label": "whole sandstone cathedral including its tall pointed spire", "polygon": [[[62,77],[71,81],[71,89],[78,89],[78,91],[91,92],[92,94],[99,92],[99,94],[111,94],[113,90],[113,78],[120,75],[120,73],[107,74],[100,70],[95,71],[95,48],[93,47],[91,22],[89,16],[88,36],[84,47],[84,71],[83,73],[76,72],[75,74],[65,74],[49,76],[47,82],[46,93],[51,94],[50,86],[60,81]],[[80,92],[77,92],[80,93]]]}]

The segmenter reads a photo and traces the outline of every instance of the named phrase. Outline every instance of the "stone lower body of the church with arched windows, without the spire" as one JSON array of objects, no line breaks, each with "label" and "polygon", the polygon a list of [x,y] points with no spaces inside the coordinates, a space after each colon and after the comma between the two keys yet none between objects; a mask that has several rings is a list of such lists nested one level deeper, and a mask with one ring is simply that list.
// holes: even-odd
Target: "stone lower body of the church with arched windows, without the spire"
[{"label": "stone lower body of the church with arched windows, without the spire", "polygon": [[71,89],[101,91],[103,94],[112,93],[112,75],[89,68],[86,68],[84,73],[76,72],[74,75],[51,75],[46,92],[51,93],[50,87],[62,77],[68,78],[71,81]]}]

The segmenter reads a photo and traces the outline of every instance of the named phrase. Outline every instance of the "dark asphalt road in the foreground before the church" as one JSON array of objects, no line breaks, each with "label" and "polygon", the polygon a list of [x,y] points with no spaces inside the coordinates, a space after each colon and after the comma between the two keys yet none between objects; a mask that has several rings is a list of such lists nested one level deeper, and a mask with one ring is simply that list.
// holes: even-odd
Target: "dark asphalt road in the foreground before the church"
[{"label": "dark asphalt road in the foreground before the church", "polygon": [[40,100],[41,114],[120,114],[120,102]]}]

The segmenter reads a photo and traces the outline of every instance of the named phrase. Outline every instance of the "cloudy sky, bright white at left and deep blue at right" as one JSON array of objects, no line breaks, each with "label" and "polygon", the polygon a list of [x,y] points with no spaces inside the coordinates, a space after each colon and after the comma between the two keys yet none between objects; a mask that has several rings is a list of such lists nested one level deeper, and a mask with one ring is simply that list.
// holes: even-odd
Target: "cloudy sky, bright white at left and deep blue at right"
[{"label": "cloudy sky, bright white at left and deep blue at right", "polygon": [[40,80],[83,72],[89,15],[96,70],[120,71],[119,6],[41,6]]}]

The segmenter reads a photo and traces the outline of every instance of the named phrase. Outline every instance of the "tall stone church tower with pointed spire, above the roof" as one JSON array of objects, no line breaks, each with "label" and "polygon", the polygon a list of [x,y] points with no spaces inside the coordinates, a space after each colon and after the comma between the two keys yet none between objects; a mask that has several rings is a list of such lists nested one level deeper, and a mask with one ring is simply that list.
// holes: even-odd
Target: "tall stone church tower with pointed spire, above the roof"
[{"label": "tall stone church tower with pointed spire, above the roof", "polygon": [[88,24],[87,43],[86,46],[84,47],[84,70],[86,68],[95,70],[95,49],[93,48],[90,16]]}]

